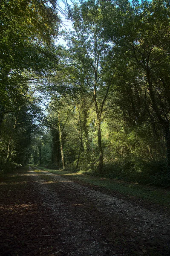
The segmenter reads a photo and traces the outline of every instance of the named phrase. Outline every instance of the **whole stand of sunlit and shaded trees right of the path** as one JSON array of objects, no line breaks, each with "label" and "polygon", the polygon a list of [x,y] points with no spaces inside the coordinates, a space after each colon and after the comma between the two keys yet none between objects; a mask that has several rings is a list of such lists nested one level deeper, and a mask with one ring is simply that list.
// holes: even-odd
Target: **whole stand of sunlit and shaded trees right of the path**
[{"label": "whole stand of sunlit and shaded trees right of the path", "polygon": [[[67,48],[52,83],[63,99],[69,95],[75,105],[64,134],[65,164],[85,168],[87,161],[85,169],[98,165],[101,174],[107,164],[120,162],[122,170],[142,172],[147,163],[163,161],[166,148],[169,166],[166,5],[166,1],[86,1],[68,9],[75,30],[64,33]],[[69,106],[65,101],[64,109]],[[59,119],[64,114],[60,112]],[[73,147],[77,151],[67,161]]]}]

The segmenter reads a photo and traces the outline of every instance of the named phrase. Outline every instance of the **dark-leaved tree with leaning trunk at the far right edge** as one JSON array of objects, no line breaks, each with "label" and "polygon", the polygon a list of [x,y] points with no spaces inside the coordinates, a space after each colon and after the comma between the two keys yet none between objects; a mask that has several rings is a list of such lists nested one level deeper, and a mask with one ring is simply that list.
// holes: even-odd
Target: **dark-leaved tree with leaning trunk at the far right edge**
[{"label": "dark-leaved tree with leaning trunk at the far right edge", "polygon": [[[169,74],[169,15],[167,1],[153,0],[139,4],[119,1],[107,6],[108,37],[133,58],[138,74],[143,76],[147,101],[156,122],[164,128],[167,148],[167,169],[170,172],[170,89]],[[106,12],[105,12],[106,14]],[[110,16],[112,15],[112,19]],[[110,20],[110,22],[109,22]],[[108,22],[108,24],[106,24]],[[131,29],[129,29],[131,28]],[[148,118],[149,121],[150,118]]]}]

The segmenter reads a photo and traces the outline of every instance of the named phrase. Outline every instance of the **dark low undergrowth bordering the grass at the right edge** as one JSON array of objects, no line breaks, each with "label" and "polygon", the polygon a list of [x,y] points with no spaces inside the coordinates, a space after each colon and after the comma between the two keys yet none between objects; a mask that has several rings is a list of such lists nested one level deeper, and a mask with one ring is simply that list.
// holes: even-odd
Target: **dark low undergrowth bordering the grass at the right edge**
[{"label": "dark low undergrowth bordering the grass at the right edge", "polygon": [[128,182],[170,187],[170,177],[166,175],[165,161],[144,161],[141,158],[122,158],[113,163],[104,164],[103,177]]}]

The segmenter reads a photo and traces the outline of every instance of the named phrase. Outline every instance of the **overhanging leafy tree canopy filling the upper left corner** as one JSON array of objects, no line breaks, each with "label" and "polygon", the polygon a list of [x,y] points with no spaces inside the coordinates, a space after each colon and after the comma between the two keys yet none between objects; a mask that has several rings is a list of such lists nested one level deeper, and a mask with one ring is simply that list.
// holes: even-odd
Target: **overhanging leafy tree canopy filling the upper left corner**
[{"label": "overhanging leafy tree canopy filling the upper left corner", "polygon": [[56,60],[52,43],[58,34],[59,19],[55,1],[50,2],[0,3],[0,125],[4,114],[23,100],[33,74],[45,74],[52,63],[49,59]]}]

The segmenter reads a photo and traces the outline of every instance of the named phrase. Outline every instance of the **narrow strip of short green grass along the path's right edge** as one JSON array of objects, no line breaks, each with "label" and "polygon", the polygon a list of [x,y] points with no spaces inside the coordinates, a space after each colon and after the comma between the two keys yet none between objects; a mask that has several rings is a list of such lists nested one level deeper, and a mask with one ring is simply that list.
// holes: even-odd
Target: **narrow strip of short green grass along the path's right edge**
[{"label": "narrow strip of short green grass along the path's right edge", "polygon": [[105,189],[109,189],[111,191],[116,191],[123,195],[126,195],[127,197],[133,196],[135,198],[147,200],[151,203],[159,204],[162,207],[170,209],[169,189],[154,188],[150,186],[139,185],[137,183],[118,181],[109,178],[92,177],[90,175],[85,175],[82,172],[72,172],[70,170],[51,170],[46,169],[42,166],[30,166],[35,167],[35,170],[36,168],[38,168],[46,172],[51,172],[55,175],[63,175],[72,180],[77,180],[86,184],[91,184]]}]

